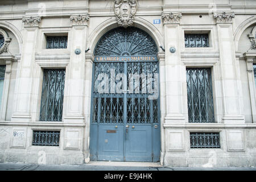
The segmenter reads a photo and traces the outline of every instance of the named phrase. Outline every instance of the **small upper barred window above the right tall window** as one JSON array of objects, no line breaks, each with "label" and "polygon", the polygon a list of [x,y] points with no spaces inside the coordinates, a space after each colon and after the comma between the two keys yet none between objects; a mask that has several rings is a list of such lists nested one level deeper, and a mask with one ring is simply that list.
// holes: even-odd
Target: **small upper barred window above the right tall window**
[{"label": "small upper barred window above the right tall window", "polygon": [[185,47],[209,47],[208,34],[185,34]]}]

